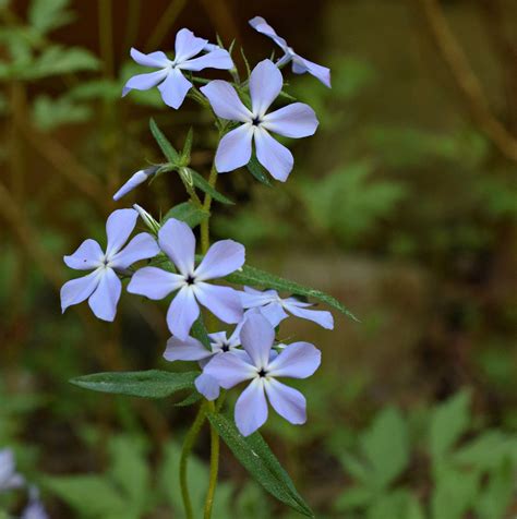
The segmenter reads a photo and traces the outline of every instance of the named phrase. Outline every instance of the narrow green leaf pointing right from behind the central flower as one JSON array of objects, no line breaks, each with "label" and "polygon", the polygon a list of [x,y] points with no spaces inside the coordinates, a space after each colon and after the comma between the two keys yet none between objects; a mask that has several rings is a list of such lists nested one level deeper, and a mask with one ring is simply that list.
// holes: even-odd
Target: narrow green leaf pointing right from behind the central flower
[{"label": "narrow green leaf pointing right from behind the central flower", "polygon": [[241,269],[230,274],[225,278],[227,281],[236,285],[250,285],[252,287],[273,288],[275,290],[291,292],[297,295],[305,295],[306,298],[314,298],[322,303],[339,310],[353,321],[359,321],[348,309],[346,309],[337,299],[332,295],[315,290],[313,288],[303,287],[294,281],[280,278],[274,274],[266,273],[255,267],[244,265]]}]

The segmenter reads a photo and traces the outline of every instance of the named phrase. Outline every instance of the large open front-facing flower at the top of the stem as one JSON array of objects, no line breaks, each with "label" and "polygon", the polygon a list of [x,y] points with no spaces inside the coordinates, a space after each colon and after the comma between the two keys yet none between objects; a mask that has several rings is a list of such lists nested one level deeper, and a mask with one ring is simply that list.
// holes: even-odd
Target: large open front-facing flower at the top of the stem
[{"label": "large open front-facing flower at the top of the stem", "polygon": [[287,180],[294,164],[292,154],[269,132],[286,137],[306,137],[314,134],[318,123],[314,110],[303,102],[293,102],[266,113],[280,94],[282,84],[281,72],[273,61],[264,60],[250,75],[251,110],[226,81],[212,81],[201,88],[218,117],[242,123],[220,140],[215,157],[218,172],[245,166],[250,161],[254,141],[256,158],[262,166],[275,179]]}]

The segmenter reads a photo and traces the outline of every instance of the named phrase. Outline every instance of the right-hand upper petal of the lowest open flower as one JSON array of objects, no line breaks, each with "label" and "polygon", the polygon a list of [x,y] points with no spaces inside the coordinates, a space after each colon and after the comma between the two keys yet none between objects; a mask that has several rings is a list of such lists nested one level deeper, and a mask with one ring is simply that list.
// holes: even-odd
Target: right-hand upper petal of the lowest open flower
[{"label": "right-hand upper petal of the lowest open flower", "polygon": [[309,342],[292,342],[267,366],[274,377],[306,378],[320,366],[322,352]]}]

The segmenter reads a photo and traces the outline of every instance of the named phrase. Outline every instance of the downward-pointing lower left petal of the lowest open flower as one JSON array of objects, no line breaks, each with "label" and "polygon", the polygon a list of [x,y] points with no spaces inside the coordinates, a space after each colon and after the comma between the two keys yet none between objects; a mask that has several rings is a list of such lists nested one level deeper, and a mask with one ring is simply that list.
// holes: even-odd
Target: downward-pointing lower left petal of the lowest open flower
[{"label": "downward-pointing lower left petal of the lowest open flower", "polygon": [[243,436],[254,433],[267,420],[264,383],[254,378],[236,402],[236,425]]}]

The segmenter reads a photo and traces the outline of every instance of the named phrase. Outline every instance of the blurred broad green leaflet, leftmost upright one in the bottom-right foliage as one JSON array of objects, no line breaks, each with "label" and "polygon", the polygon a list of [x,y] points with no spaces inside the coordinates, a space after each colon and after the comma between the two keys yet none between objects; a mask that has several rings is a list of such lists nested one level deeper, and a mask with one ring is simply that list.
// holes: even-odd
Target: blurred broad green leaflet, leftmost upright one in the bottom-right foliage
[{"label": "blurred broad green leaflet, leftmost upright one in the bottom-right foliage", "polygon": [[408,427],[397,409],[380,412],[362,435],[361,446],[372,467],[371,484],[386,488],[409,462]]}]

